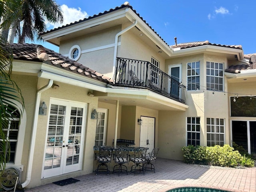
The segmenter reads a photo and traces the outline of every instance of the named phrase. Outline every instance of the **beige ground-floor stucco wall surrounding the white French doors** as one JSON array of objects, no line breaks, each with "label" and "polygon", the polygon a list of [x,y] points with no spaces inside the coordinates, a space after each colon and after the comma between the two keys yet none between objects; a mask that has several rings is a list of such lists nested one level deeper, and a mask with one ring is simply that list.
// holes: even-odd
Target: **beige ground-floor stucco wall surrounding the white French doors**
[{"label": "beige ground-floor stucco wall surrounding the white French doors", "polygon": [[[37,88],[41,88],[48,83],[48,80],[39,79]],[[48,90],[42,92],[40,101],[44,101],[47,104],[48,110],[50,108],[50,98],[58,98],[63,100],[77,101],[82,103],[87,103],[87,112],[86,112],[86,124],[84,131],[84,144],[83,144],[83,154],[84,158],[82,159],[82,170],[78,172],[72,172],[60,176],[55,176],[51,178],[45,178],[41,180],[42,173],[42,164],[44,158],[44,148],[46,141],[46,129],[47,129],[47,120],[49,111],[46,116],[38,116],[38,127],[36,132],[36,144],[34,151],[33,167],[32,167],[32,178],[28,188],[33,186],[38,186],[46,184],[55,180],[60,180],[60,178],[67,178],[68,175],[72,177],[89,174],[92,172],[93,165],[93,146],[95,140],[95,127],[96,121],[90,119],[90,114],[94,108],[98,107],[98,98],[87,96],[88,90],[85,88],[70,86],[63,84],[61,82],[54,82],[60,86],[58,90],[49,88]],[[32,116],[32,114],[31,114]],[[28,140],[29,141],[29,140]],[[26,162],[24,162],[26,163]],[[24,178],[22,178],[24,180]]]}]

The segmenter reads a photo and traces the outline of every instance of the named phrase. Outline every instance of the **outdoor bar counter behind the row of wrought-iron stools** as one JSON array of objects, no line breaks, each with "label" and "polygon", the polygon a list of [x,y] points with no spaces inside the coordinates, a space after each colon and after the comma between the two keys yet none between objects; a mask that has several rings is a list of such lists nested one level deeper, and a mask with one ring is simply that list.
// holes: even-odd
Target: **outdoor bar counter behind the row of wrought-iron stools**
[{"label": "outdoor bar counter behind the row of wrought-iron stools", "polygon": [[[102,147],[113,148],[113,154],[115,153],[115,150],[116,150],[116,149],[122,148],[122,149],[128,150],[128,151],[129,151],[129,155],[133,155],[133,154],[134,154],[134,150],[136,150],[136,149],[137,149],[137,150],[140,149],[140,148],[141,148],[141,149],[148,149],[148,148],[144,148],[144,147],[120,146],[120,145],[116,146],[116,148],[114,148],[114,147],[112,147],[112,146],[94,146],[94,147],[93,147],[93,150],[94,150],[94,158],[95,158],[95,153],[97,153],[97,151],[99,151],[100,148],[102,148]],[[148,151],[147,151],[147,153],[148,153]],[[115,161],[113,160],[113,154],[112,154],[111,162],[108,164],[108,168],[109,168],[109,170],[110,170],[111,173],[112,173],[112,171],[113,171],[113,167],[116,165],[116,164],[115,164]],[[93,162],[93,171],[97,169],[97,166],[98,166],[98,163],[97,163],[97,162],[98,162],[97,160],[94,160],[94,162]],[[124,165],[127,167],[128,172],[130,172],[131,167],[132,167],[132,165],[133,165],[133,162],[129,162],[129,156],[128,156],[128,163],[127,163],[127,164],[124,164]]]}]

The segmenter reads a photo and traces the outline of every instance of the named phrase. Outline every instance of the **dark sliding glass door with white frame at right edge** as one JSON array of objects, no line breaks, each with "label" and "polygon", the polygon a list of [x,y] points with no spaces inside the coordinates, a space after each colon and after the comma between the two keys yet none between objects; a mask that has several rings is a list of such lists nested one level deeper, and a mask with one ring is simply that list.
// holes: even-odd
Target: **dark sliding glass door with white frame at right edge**
[{"label": "dark sliding glass door with white frame at right edge", "polygon": [[256,121],[232,121],[232,142],[256,156]]}]

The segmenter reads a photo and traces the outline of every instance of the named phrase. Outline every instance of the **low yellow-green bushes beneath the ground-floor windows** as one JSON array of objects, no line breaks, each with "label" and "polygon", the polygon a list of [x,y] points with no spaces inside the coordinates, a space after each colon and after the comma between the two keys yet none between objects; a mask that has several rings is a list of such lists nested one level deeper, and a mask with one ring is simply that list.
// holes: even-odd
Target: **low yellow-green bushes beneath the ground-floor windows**
[{"label": "low yellow-green bushes beneath the ground-floor windows", "polygon": [[234,150],[229,145],[224,146],[184,146],[182,147],[184,162],[188,164],[204,164],[222,167],[254,166],[254,161]]}]

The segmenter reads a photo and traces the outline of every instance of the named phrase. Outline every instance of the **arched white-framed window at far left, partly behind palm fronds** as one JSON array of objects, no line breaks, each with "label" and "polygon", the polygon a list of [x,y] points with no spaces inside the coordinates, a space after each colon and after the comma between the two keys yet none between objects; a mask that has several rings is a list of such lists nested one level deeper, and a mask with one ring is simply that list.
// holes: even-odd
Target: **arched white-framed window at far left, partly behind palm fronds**
[{"label": "arched white-framed window at far left, partly behind palm fronds", "polygon": [[[24,134],[25,134],[25,127],[26,127],[26,111],[22,112],[22,116],[20,115],[20,108],[22,105],[17,103],[16,101],[12,100],[18,108],[8,107],[6,110],[10,111],[12,116],[12,120],[8,122],[8,127],[4,127],[3,130],[6,134],[6,137],[10,140],[10,159],[7,161],[8,164],[21,165],[21,157],[22,157],[22,150],[23,150],[23,142],[24,142]],[[0,139],[0,141],[3,141]],[[0,151],[1,153],[3,151]],[[8,165],[7,165],[8,167]]]}]

